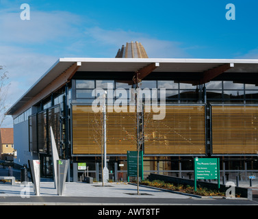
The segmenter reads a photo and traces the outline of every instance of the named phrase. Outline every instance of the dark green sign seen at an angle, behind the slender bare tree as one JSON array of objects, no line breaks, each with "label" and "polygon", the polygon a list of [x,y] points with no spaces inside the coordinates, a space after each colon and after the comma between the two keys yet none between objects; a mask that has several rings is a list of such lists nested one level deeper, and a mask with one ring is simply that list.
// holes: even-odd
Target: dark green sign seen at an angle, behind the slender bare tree
[{"label": "dark green sign seen at an angle, behind the slender bare tree", "polygon": [[[137,177],[137,157],[138,151],[127,151],[127,178]],[[143,152],[139,154],[139,177],[143,179],[143,168],[142,168]]]}]

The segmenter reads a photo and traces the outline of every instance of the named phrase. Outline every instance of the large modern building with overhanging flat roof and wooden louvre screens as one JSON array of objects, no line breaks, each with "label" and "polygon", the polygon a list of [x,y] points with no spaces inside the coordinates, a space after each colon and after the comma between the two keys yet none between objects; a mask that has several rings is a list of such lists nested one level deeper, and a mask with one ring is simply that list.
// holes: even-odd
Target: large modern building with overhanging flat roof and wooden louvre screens
[{"label": "large modern building with overhanging flat roof and wooden louvre screens", "polygon": [[[15,162],[40,159],[42,177],[51,177],[52,127],[60,158],[70,159],[70,179],[77,181],[84,171],[78,163],[86,163],[100,180],[104,117],[92,103],[107,91],[109,179],[127,180],[127,151],[137,146],[144,177],[191,177],[194,157],[219,157],[220,177],[247,179],[258,172],[257,81],[258,60],[149,58],[137,42],[116,58],[60,58],[6,112],[14,118]],[[141,113],[130,110],[136,88],[151,94]],[[166,114],[155,120],[159,108],[149,105],[162,106],[164,88]]]}]

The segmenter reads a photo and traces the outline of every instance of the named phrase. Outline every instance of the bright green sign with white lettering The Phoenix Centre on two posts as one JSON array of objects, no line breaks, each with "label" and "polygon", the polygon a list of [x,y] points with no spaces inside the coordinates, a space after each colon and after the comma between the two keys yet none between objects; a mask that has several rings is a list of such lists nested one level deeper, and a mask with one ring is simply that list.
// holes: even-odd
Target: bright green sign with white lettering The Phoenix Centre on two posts
[{"label": "bright green sign with white lettering The Phoenix Centre on two posts", "polygon": [[217,179],[220,188],[220,159],[194,158],[194,190],[197,179]]}]

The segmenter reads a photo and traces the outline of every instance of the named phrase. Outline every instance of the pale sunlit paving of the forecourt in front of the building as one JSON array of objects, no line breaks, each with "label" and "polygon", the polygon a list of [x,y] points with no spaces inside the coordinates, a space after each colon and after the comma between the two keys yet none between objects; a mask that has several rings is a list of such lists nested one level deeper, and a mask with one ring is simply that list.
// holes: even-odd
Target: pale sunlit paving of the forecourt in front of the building
[{"label": "pale sunlit paving of the forecourt in front of the building", "polygon": [[[131,198],[137,194],[137,186],[127,183],[66,183],[64,194],[62,196],[80,196],[80,197],[119,197]],[[189,196],[181,194],[173,194],[170,192],[162,192],[151,188],[140,187],[141,198],[189,198]],[[0,184],[1,196],[35,196],[33,183],[27,185],[21,183]],[[57,190],[53,182],[40,182],[40,196],[58,196]]]}]

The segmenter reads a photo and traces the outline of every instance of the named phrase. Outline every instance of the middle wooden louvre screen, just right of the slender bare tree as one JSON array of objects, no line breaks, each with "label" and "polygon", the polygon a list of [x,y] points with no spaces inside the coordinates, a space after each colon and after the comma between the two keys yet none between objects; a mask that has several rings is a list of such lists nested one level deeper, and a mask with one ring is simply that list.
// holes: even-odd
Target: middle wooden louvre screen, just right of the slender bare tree
[{"label": "middle wooden louvre screen, just right of the slender bare tree", "polygon": [[205,106],[166,106],[166,117],[144,113],[145,154],[205,154]]}]

